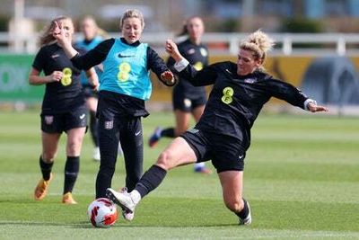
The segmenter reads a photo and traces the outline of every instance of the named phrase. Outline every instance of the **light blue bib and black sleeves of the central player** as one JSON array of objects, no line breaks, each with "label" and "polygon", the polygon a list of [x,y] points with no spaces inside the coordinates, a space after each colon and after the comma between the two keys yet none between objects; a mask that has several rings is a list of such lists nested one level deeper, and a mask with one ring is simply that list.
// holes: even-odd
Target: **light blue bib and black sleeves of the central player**
[{"label": "light blue bib and black sleeves of the central player", "polygon": [[124,38],[104,40],[85,55],[71,58],[71,61],[79,69],[89,69],[102,63],[100,92],[118,93],[143,101],[148,100],[152,92],[149,70],[158,79],[169,70],[146,43],[136,41],[128,44]]}]

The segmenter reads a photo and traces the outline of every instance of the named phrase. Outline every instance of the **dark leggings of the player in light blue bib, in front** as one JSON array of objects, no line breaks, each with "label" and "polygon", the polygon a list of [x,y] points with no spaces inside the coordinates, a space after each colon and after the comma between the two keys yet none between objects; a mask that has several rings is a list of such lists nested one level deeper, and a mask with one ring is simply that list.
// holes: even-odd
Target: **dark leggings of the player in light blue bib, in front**
[{"label": "dark leggings of the player in light blue bib, in front", "polygon": [[118,140],[125,158],[126,187],[135,189],[143,173],[144,139],[140,117],[101,116],[99,119],[100,170],[96,179],[96,198],[106,197],[118,156]]}]

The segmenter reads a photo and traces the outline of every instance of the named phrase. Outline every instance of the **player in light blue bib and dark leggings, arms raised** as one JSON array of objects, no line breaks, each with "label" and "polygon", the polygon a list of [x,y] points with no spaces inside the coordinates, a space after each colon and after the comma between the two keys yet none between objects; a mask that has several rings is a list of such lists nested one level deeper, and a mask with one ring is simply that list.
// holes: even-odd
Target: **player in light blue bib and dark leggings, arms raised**
[{"label": "player in light blue bib and dark leggings, arms raised", "polygon": [[[137,10],[127,10],[121,20],[122,38],[101,42],[85,55],[71,46],[65,37],[63,26],[57,26],[54,36],[66,49],[75,67],[88,69],[103,65],[99,105],[100,170],[96,180],[96,198],[106,197],[115,172],[118,140],[125,156],[126,187],[132,191],[143,173],[144,139],[141,117],[149,113],[144,101],[150,98],[152,84],[149,70],[163,84],[173,85],[175,79],[162,58],[146,43],[140,42],[144,31],[144,17]],[[124,213],[124,217],[132,219]],[[133,216],[133,215],[132,215]]]}]

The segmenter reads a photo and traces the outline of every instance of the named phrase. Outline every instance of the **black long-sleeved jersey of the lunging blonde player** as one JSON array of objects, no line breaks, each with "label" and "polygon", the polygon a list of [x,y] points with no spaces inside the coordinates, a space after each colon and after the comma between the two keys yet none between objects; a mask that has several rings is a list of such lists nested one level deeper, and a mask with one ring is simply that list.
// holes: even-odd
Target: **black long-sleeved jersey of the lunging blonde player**
[{"label": "black long-sleeved jersey of the lunging blonde player", "polygon": [[[256,71],[247,76],[237,75],[237,65],[221,62],[205,67],[201,71],[188,65],[180,76],[194,85],[214,84],[197,129],[204,129],[232,136],[248,138],[250,128],[259,111],[271,97],[289,102],[304,109],[308,99],[292,84],[273,78],[267,73]],[[245,148],[248,148],[245,146]]]}]

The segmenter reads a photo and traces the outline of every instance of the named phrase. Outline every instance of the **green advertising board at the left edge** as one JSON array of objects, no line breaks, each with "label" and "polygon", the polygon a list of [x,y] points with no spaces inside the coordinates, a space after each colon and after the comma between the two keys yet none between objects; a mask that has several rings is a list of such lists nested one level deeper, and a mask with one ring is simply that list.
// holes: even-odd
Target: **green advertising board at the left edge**
[{"label": "green advertising board at the left edge", "polygon": [[0,54],[0,102],[41,102],[44,85],[29,84],[33,55]]}]

